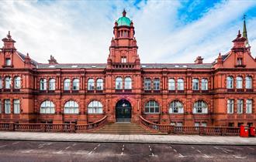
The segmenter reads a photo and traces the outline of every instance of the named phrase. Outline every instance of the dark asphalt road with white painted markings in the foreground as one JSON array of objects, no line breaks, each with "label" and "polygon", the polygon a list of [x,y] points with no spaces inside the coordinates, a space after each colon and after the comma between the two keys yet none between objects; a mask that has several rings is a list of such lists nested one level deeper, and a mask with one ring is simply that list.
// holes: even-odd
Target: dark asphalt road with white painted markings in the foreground
[{"label": "dark asphalt road with white painted markings in the foreground", "polygon": [[256,146],[0,140],[0,161],[255,161]]}]

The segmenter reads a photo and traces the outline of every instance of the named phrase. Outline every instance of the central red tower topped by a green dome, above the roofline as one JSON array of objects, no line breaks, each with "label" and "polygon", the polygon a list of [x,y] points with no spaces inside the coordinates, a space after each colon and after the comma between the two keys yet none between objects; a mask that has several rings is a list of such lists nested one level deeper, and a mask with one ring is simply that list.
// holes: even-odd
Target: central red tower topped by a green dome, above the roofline
[{"label": "central red tower topped by a green dome, above the roofline", "polygon": [[109,47],[109,68],[139,68],[140,58],[137,55],[137,41],[134,37],[135,31],[133,22],[126,17],[126,10],[123,16],[117,19],[113,27],[114,37]]}]

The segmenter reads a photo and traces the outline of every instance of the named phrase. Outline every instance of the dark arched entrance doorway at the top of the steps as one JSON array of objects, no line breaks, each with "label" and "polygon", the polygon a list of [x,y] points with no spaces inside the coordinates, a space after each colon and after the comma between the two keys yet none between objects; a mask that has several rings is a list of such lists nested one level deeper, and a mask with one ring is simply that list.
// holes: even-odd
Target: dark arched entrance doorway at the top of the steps
[{"label": "dark arched entrance doorway at the top of the steps", "polygon": [[127,100],[119,100],[116,103],[116,121],[117,122],[130,122],[132,117],[132,106]]}]

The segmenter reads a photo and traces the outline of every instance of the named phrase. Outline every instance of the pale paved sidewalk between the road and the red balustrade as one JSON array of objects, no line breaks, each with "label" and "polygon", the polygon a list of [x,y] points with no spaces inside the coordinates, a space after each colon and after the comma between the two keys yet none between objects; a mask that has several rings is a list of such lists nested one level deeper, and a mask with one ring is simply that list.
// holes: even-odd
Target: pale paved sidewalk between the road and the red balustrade
[{"label": "pale paved sidewalk between the road and the red balustrade", "polygon": [[223,137],[198,135],[0,132],[0,140],[256,146],[256,137]]}]

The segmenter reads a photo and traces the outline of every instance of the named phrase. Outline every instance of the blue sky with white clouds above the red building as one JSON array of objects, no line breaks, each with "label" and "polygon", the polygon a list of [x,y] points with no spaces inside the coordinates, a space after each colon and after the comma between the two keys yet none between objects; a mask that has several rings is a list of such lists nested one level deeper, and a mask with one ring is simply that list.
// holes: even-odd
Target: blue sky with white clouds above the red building
[{"label": "blue sky with white clouds above the red building", "polygon": [[38,62],[105,63],[112,27],[126,8],[141,62],[213,62],[232,47],[247,15],[256,56],[256,1],[1,1],[0,37],[10,30],[19,52]]}]

